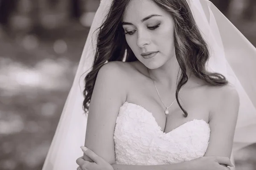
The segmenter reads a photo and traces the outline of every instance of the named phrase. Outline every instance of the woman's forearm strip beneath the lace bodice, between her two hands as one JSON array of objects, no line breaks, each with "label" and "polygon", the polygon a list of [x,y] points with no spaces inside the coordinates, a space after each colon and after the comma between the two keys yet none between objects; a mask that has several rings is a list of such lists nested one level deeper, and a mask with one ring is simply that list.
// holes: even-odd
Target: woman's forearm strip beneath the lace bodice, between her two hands
[{"label": "woman's forearm strip beneath the lace bodice, between her two hands", "polygon": [[114,170],[191,170],[189,161],[168,165],[122,165],[112,164]]}]

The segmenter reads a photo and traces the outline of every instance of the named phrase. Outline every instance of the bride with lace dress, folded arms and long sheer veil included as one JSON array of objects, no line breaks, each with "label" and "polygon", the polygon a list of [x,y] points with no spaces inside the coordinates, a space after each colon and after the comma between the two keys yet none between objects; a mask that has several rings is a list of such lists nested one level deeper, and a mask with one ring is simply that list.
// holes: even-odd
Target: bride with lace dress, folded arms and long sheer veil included
[{"label": "bride with lace dress, folded arms and long sheer veil included", "polygon": [[[255,86],[239,82],[255,71],[239,79],[230,67],[230,56],[256,52],[234,30],[207,0],[102,0],[43,169],[74,169],[87,120],[83,170],[233,166],[232,149],[256,141],[242,136],[255,130]],[[83,117],[76,81],[94,55]]]}]

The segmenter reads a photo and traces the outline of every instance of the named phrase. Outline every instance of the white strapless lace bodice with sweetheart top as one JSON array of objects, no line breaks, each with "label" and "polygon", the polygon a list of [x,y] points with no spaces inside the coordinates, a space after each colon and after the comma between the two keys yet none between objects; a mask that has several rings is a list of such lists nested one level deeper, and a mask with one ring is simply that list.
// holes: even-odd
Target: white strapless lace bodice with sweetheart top
[{"label": "white strapless lace bodice with sweetheart top", "polygon": [[114,130],[116,164],[159,165],[197,159],[204,156],[209,136],[209,124],[198,119],[164,133],[152,113],[125,102]]}]

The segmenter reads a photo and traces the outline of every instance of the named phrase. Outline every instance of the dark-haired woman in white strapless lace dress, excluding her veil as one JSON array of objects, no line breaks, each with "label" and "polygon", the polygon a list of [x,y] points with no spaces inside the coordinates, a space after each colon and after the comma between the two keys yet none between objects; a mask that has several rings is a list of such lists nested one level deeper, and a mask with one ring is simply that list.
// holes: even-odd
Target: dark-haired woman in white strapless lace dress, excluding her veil
[{"label": "dark-haired woman in white strapless lace dress, excluding her veil", "polygon": [[[93,158],[94,168],[231,166],[210,156],[230,157],[239,97],[224,76],[206,68],[202,36],[212,37],[200,31],[185,0],[113,1],[85,79],[85,146],[101,160]],[[211,56],[218,59],[221,45],[214,42]]]}]

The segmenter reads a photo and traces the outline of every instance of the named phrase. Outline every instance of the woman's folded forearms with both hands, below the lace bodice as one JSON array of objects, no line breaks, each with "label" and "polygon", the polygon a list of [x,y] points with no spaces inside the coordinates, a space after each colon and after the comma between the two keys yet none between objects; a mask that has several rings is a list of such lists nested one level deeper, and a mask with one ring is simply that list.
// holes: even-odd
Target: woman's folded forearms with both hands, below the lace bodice
[{"label": "woman's folded forearms with both hands, below the lace bodice", "polygon": [[96,155],[88,148],[81,147],[84,155],[92,159],[93,162],[85,161],[82,157],[76,160],[82,170],[230,170],[228,167],[223,167],[220,164],[225,164],[233,167],[228,157],[220,156],[204,156],[192,161],[185,161],[177,164],[169,165],[112,165]]}]

